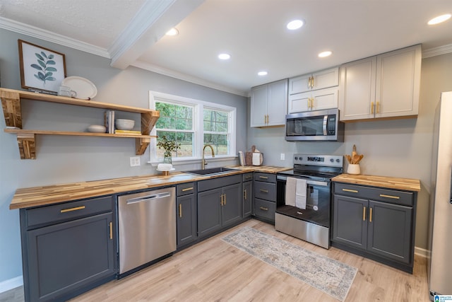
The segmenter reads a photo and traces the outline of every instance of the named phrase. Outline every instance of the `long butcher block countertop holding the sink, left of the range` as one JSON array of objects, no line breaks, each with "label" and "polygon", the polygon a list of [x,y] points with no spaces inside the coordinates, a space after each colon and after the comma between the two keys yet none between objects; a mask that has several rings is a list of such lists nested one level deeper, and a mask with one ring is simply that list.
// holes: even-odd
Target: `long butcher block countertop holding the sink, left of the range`
[{"label": "long butcher block countertop holding the sink, left of the range", "polygon": [[45,187],[28,187],[16,190],[9,209],[23,209],[38,207],[58,202],[90,198],[108,194],[131,192],[135,190],[162,187],[165,185],[177,185],[184,182],[194,182],[219,178],[228,175],[243,174],[247,172],[278,173],[290,168],[262,166],[234,166],[237,171],[222,173],[221,175],[198,176],[188,173],[174,172],[169,175],[144,175],[128,178],[114,178],[110,180],[93,180],[88,182],[74,182],[61,185],[49,185]]}]

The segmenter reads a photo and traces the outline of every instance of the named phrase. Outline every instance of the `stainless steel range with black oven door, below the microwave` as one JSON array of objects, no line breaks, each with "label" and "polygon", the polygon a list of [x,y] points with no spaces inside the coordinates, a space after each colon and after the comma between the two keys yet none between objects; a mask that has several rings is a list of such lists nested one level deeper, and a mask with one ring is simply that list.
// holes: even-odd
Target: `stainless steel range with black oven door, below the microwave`
[{"label": "stainless steel range with black oven door, below the microwave", "polygon": [[[293,170],[278,173],[276,177],[275,229],[329,248],[331,178],[342,173],[343,156],[295,154]],[[292,187],[287,187],[288,178],[292,178],[289,179]],[[302,181],[297,182],[297,179]],[[288,202],[293,199],[291,194],[302,196],[301,206]]]}]

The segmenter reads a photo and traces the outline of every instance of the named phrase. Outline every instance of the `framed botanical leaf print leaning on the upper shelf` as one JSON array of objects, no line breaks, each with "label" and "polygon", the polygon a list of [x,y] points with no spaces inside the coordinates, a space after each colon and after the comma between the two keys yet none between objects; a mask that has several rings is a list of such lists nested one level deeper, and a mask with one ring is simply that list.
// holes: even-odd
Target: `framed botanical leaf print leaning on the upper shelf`
[{"label": "framed botanical leaf print leaning on the upper shelf", "polygon": [[66,77],[64,54],[18,40],[22,88],[58,93]]}]

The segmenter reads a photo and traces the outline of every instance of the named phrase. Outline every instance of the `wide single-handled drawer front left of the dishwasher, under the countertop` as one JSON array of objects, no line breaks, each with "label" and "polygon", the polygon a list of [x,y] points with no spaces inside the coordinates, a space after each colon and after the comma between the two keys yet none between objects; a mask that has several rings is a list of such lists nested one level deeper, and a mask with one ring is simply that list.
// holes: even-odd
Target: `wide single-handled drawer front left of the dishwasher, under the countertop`
[{"label": "wide single-handled drawer front left of the dishwasher, under the countertop", "polygon": [[113,207],[113,197],[105,196],[25,209],[25,215],[30,228],[106,213],[112,211]]}]

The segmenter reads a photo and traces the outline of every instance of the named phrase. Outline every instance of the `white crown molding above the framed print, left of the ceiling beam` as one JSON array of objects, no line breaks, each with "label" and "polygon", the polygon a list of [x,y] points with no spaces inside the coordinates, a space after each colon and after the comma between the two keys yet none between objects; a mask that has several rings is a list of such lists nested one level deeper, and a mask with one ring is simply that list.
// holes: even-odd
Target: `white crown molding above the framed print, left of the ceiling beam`
[{"label": "white crown molding above the framed print, left of the ceiling beam", "polygon": [[4,17],[0,17],[0,28],[110,59],[109,53],[104,48],[90,45],[79,40],[71,39],[70,37],[65,37],[64,35],[53,33],[49,30],[36,28],[34,26],[26,25]]}]

